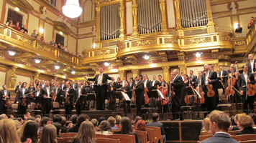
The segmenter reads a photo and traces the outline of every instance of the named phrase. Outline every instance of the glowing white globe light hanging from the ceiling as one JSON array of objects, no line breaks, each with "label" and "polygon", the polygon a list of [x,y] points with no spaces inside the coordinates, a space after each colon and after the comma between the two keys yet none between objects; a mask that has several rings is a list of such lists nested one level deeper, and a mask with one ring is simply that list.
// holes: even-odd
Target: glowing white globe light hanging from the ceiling
[{"label": "glowing white globe light hanging from the ceiling", "polygon": [[79,6],[79,0],[67,0],[63,6],[63,14],[70,18],[76,18],[82,14],[82,8]]}]

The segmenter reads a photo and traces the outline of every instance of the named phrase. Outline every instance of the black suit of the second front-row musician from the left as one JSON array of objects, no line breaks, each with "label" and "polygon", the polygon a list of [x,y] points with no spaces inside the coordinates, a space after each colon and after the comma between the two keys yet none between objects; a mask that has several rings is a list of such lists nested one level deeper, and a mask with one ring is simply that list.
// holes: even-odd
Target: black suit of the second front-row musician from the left
[{"label": "black suit of the second front-row musician from the left", "polygon": [[[22,89],[19,89],[19,96],[18,96],[18,102],[19,102],[19,105],[18,105],[18,114],[26,114],[26,112],[27,112],[27,105],[29,104],[29,100],[30,100],[30,98],[29,98],[29,96],[30,96],[30,94],[29,94],[29,89],[25,89],[24,90],[24,94],[23,94],[23,92],[22,92]],[[27,94],[27,95],[25,95],[25,94]],[[22,99],[23,99],[23,96],[25,96],[25,99],[26,99],[26,106],[22,106]]]}]

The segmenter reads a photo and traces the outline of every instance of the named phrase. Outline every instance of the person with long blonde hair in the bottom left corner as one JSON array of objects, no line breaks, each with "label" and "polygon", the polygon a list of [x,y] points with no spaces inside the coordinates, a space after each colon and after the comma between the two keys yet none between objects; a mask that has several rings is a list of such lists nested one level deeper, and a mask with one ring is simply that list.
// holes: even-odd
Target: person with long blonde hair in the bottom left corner
[{"label": "person with long blonde hair in the bottom left corner", "polygon": [[1,119],[0,142],[1,143],[20,142],[16,129],[17,128],[13,119]]}]

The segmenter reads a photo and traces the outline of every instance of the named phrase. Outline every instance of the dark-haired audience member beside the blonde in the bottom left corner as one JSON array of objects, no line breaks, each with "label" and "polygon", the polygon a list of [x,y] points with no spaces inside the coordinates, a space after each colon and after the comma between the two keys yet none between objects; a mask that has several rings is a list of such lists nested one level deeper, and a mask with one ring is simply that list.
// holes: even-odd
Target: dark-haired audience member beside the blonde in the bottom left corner
[{"label": "dark-haired audience member beside the blonde in the bottom left corner", "polygon": [[38,128],[39,124],[35,121],[28,122],[24,127],[24,132],[22,134],[22,137],[20,138],[22,142],[26,142],[27,139],[31,139],[31,143],[37,143],[38,142]]}]

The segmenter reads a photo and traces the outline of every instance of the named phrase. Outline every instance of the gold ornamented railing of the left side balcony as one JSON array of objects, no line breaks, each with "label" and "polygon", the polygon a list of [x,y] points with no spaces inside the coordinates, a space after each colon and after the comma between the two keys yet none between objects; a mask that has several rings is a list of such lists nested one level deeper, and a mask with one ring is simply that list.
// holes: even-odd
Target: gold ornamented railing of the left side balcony
[{"label": "gold ornamented railing of the left side balcony", "polygon": [[79,62],[77,56],[58,49],[55,46],[50,46],[45,42],[3,24],[0,24],[0,41],[7,45],[8,49],[39,54],[42,59],[59,61],[73,66],[76,66]]}]

